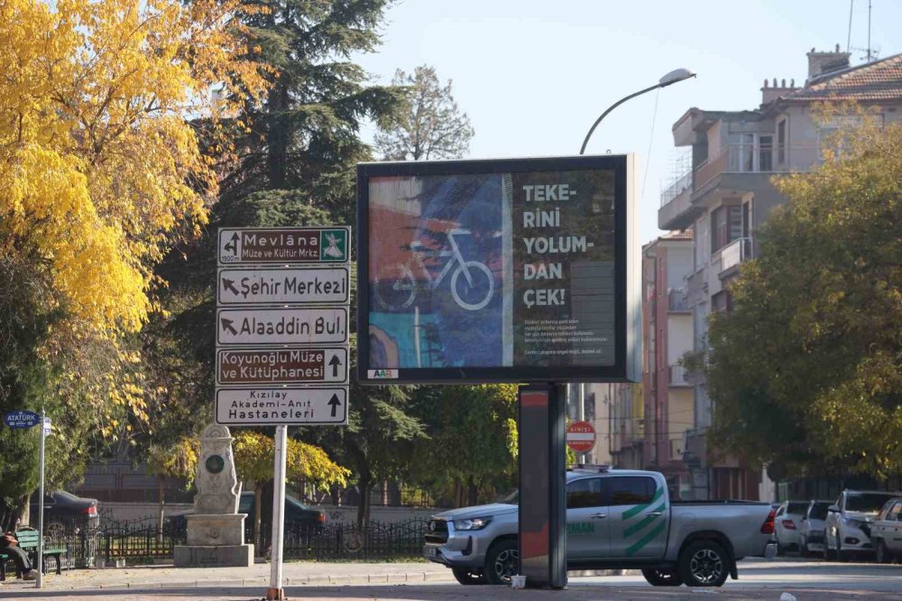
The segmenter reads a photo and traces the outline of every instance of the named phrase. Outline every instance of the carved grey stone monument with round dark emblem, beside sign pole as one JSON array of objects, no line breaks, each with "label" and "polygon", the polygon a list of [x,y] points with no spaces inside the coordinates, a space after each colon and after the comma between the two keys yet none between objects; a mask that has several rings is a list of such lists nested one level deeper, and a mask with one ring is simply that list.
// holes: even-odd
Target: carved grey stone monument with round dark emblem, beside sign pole
[{"label": "carved grey stone monument with round dark emblem, beside sign pole", "polygon": [[238,513],[241,485],[235,474],[232,436],[226,426],[210,424],[200,437],[198,495],[188,520],[188,545],[174,549],[176,568],[248,567],[253,545],[244,544],[244,518]]}]

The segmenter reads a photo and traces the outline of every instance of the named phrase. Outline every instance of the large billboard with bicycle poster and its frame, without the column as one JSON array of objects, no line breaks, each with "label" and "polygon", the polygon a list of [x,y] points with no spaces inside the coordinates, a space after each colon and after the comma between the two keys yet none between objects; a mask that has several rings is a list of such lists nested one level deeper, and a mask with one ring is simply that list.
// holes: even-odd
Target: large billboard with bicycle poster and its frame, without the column
[{"label": "large billboard with bicycle poster and its frame, without the column", "polygon": [[636,377],[632,165],[358,165],[361,381]]}]

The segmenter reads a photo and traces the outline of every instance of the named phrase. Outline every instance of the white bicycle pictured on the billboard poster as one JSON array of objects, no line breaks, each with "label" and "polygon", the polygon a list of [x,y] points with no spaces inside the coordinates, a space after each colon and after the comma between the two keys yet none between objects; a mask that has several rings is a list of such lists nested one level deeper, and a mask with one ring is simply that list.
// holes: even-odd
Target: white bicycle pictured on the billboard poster
[{"label": "white bicycle pictured on the billboard poster", "polygon": [[[450,229],[446,234],[450,250],[428,250],[419,240],[410,243],[413,256],[406,264],[394,266],[377,273],[375,278],[376,301],[387,310],[403,310],[410,307],[417,299],[418,290],[436,290],[452,269],[451,296],[457,306],[468,311],[483,309],[492,300],[495,282],[492,272],[478,261],[466,261],[460,252],[455,236],[469,236],[468,229]],[[432,277],[425,259],[451,257],[446,261],[442,271],[436,278]],[[420,282],[415,270],[422,273]],[[461,278],[463,276],[463,278]],[[484,283],[483,283],[484,281]],[[381,283],[389,284],[391,291],[400,294],[386,294]],[[380,293],[382,290],[382,293]],[[483,291],[480,297],[473,299],[474,292]],[[388,298],[391,297],[391,298]]]}]

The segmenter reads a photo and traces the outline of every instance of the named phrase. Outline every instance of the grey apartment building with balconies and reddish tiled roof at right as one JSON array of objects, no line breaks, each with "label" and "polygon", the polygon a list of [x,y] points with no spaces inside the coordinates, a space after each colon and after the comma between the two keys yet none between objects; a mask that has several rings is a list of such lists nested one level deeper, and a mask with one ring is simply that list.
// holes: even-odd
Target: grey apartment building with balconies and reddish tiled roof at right
[{"label": "grey apartment building with balconies and reddish tiled roof at right", "polygon": [[[808,171],[820,162],[826,136],[842,122],[818,125],[815,102],[854,100],[876,109],[884,123],[902,119],[902,54],[851,67],[839,51],[807,53],[804,85],[765,81],[758,108],[713,111],[690,108],[673,126],[674,143],[686,148],[687,168],[661,193],[658,227],[693,232],[686,305],[695,351],[703,351],[708,316],[731,310],[729,284],[754,257],[755,231],[785,199],[771,183],[775,173]],[[759,496],[757,466],[709,448],[712,405],[704,380],[687,374],[694,423],[683,461],[694,498]],[[647,418],[648,421],[648,418]]]}]

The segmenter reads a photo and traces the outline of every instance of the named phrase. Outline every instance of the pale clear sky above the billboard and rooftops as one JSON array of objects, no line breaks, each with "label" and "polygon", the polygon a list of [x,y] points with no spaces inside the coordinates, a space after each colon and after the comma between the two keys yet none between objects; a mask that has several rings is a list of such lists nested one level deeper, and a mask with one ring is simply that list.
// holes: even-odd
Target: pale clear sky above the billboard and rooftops
[{"label": "pale clear sky above the billboard and rooftops", "polygon": [[[902,0],[871,0],[871,47],[902,52]],[[660,191],[679,150],[671,127],[692,106],[757,108],[764,79],[805,81],[805,53],[864,61],[868,0],[400,0],[382,45],[353,59],[387,84],[395,69],[435,67],[475,136],[467,158],[574,155],[604,109],[668,71],[697,73],[605,117],[587,154],[637,153],[638,231],[660,234]],[[657,110],[656,110],[657,103]],[[372,142],[373,128],[364,139]]]}]

